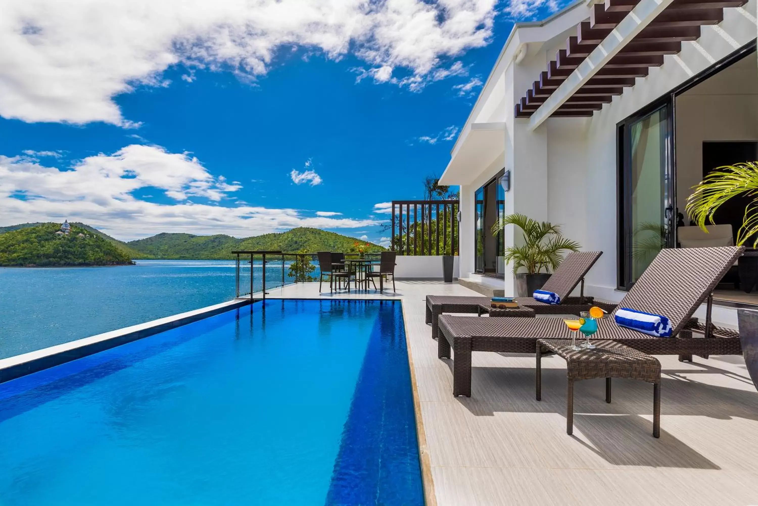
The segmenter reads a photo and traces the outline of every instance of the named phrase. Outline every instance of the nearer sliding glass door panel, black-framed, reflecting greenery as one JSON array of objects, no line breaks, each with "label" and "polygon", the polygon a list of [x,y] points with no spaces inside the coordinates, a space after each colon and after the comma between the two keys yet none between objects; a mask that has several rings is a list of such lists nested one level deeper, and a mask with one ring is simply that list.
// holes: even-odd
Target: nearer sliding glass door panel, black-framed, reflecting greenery
[{"label": "nearer sliding glass door panel, black-framed, reflecting greenery", "polygon": [[674,245],[672,117],[668,102],[619,124],[619,288]]}]

